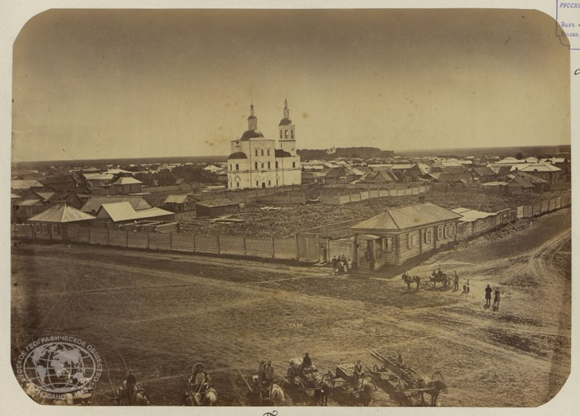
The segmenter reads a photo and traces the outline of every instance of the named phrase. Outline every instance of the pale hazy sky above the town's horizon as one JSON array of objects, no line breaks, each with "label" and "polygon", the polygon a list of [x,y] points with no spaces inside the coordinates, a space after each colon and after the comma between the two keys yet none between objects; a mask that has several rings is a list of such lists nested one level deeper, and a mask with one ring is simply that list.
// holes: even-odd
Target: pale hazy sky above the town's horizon
[{"label": "pale hazy sky above the town's horizon", "polygon": [[524,10],[49,10],[14,45],[13,161],[570,144],[570,51]]}]

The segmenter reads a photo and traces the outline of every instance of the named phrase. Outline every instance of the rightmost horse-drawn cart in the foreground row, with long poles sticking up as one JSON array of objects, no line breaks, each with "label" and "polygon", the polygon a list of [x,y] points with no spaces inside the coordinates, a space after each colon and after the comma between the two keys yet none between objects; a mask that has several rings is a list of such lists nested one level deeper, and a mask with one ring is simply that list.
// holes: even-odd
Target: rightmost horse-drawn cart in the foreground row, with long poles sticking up
[{"label": "rightmost horse-drawn cart in the foreground row, with long poles sticking up", "polygon": [[431,406],[437,403],[439,392],[446,389],[443,376],[440,372],[434,372],[429,380],[425,377],[417,378],[416,372],[409,366],[390,356],[383,356],[374,349],[367,352],[380,361],[381,365],[374,364],[373,370],[369,370],[375,381],[384,381],[389,386],[389,393],[403,403],[410,404],[412,397],[421,397],[421,404],[425,405],[425,393],[431,397]]}]

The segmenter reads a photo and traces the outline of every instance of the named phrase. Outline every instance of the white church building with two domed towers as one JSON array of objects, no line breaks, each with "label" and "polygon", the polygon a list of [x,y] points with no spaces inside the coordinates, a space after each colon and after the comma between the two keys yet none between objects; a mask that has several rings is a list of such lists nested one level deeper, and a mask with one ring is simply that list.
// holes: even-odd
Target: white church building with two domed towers
[{"label": "white church building with two domed towers", "polygon": [[288,101],[284,101],[284,118],[278,130],[279,138],[267,139],[258,130],[254,104],[249,106],[248,130],[231,141],[227,158],[229,189],[272,188],[301,184],[300,156],[296,154],[295,125],[290,120]]}]

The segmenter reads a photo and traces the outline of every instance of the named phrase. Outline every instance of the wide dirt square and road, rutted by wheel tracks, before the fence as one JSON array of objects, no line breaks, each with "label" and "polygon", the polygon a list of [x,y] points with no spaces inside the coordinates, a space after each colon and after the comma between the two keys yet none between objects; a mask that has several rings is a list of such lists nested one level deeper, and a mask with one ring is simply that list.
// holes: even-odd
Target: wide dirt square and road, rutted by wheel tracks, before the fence
[{"label": "wide dirt square and road, rutted by wheel tracks, before the fence", "polygon": [[[129,368],[155,404],[178,405],[184,374],[202,362],[221,405],[245,404],[240,377],[310,352],[319,369],[401,352],[430,376],[443,406],[538,406],[570,368],[570,209],[527,229],[480,239],[410,270],[470,279],[471,292],[407,293],[400,278],[336,277],[327,268],[187,254],[22,244],[12,253],[12,345],[66,333],[96,346],[106,374],[95,404],[109,404]],[[483,309],[486,284],[499,311]],[[288,385],[288,404],[311,404]],[[331,399],[331,404],[344,404]],[[374,392],[373,406],[399,406]]]}]

